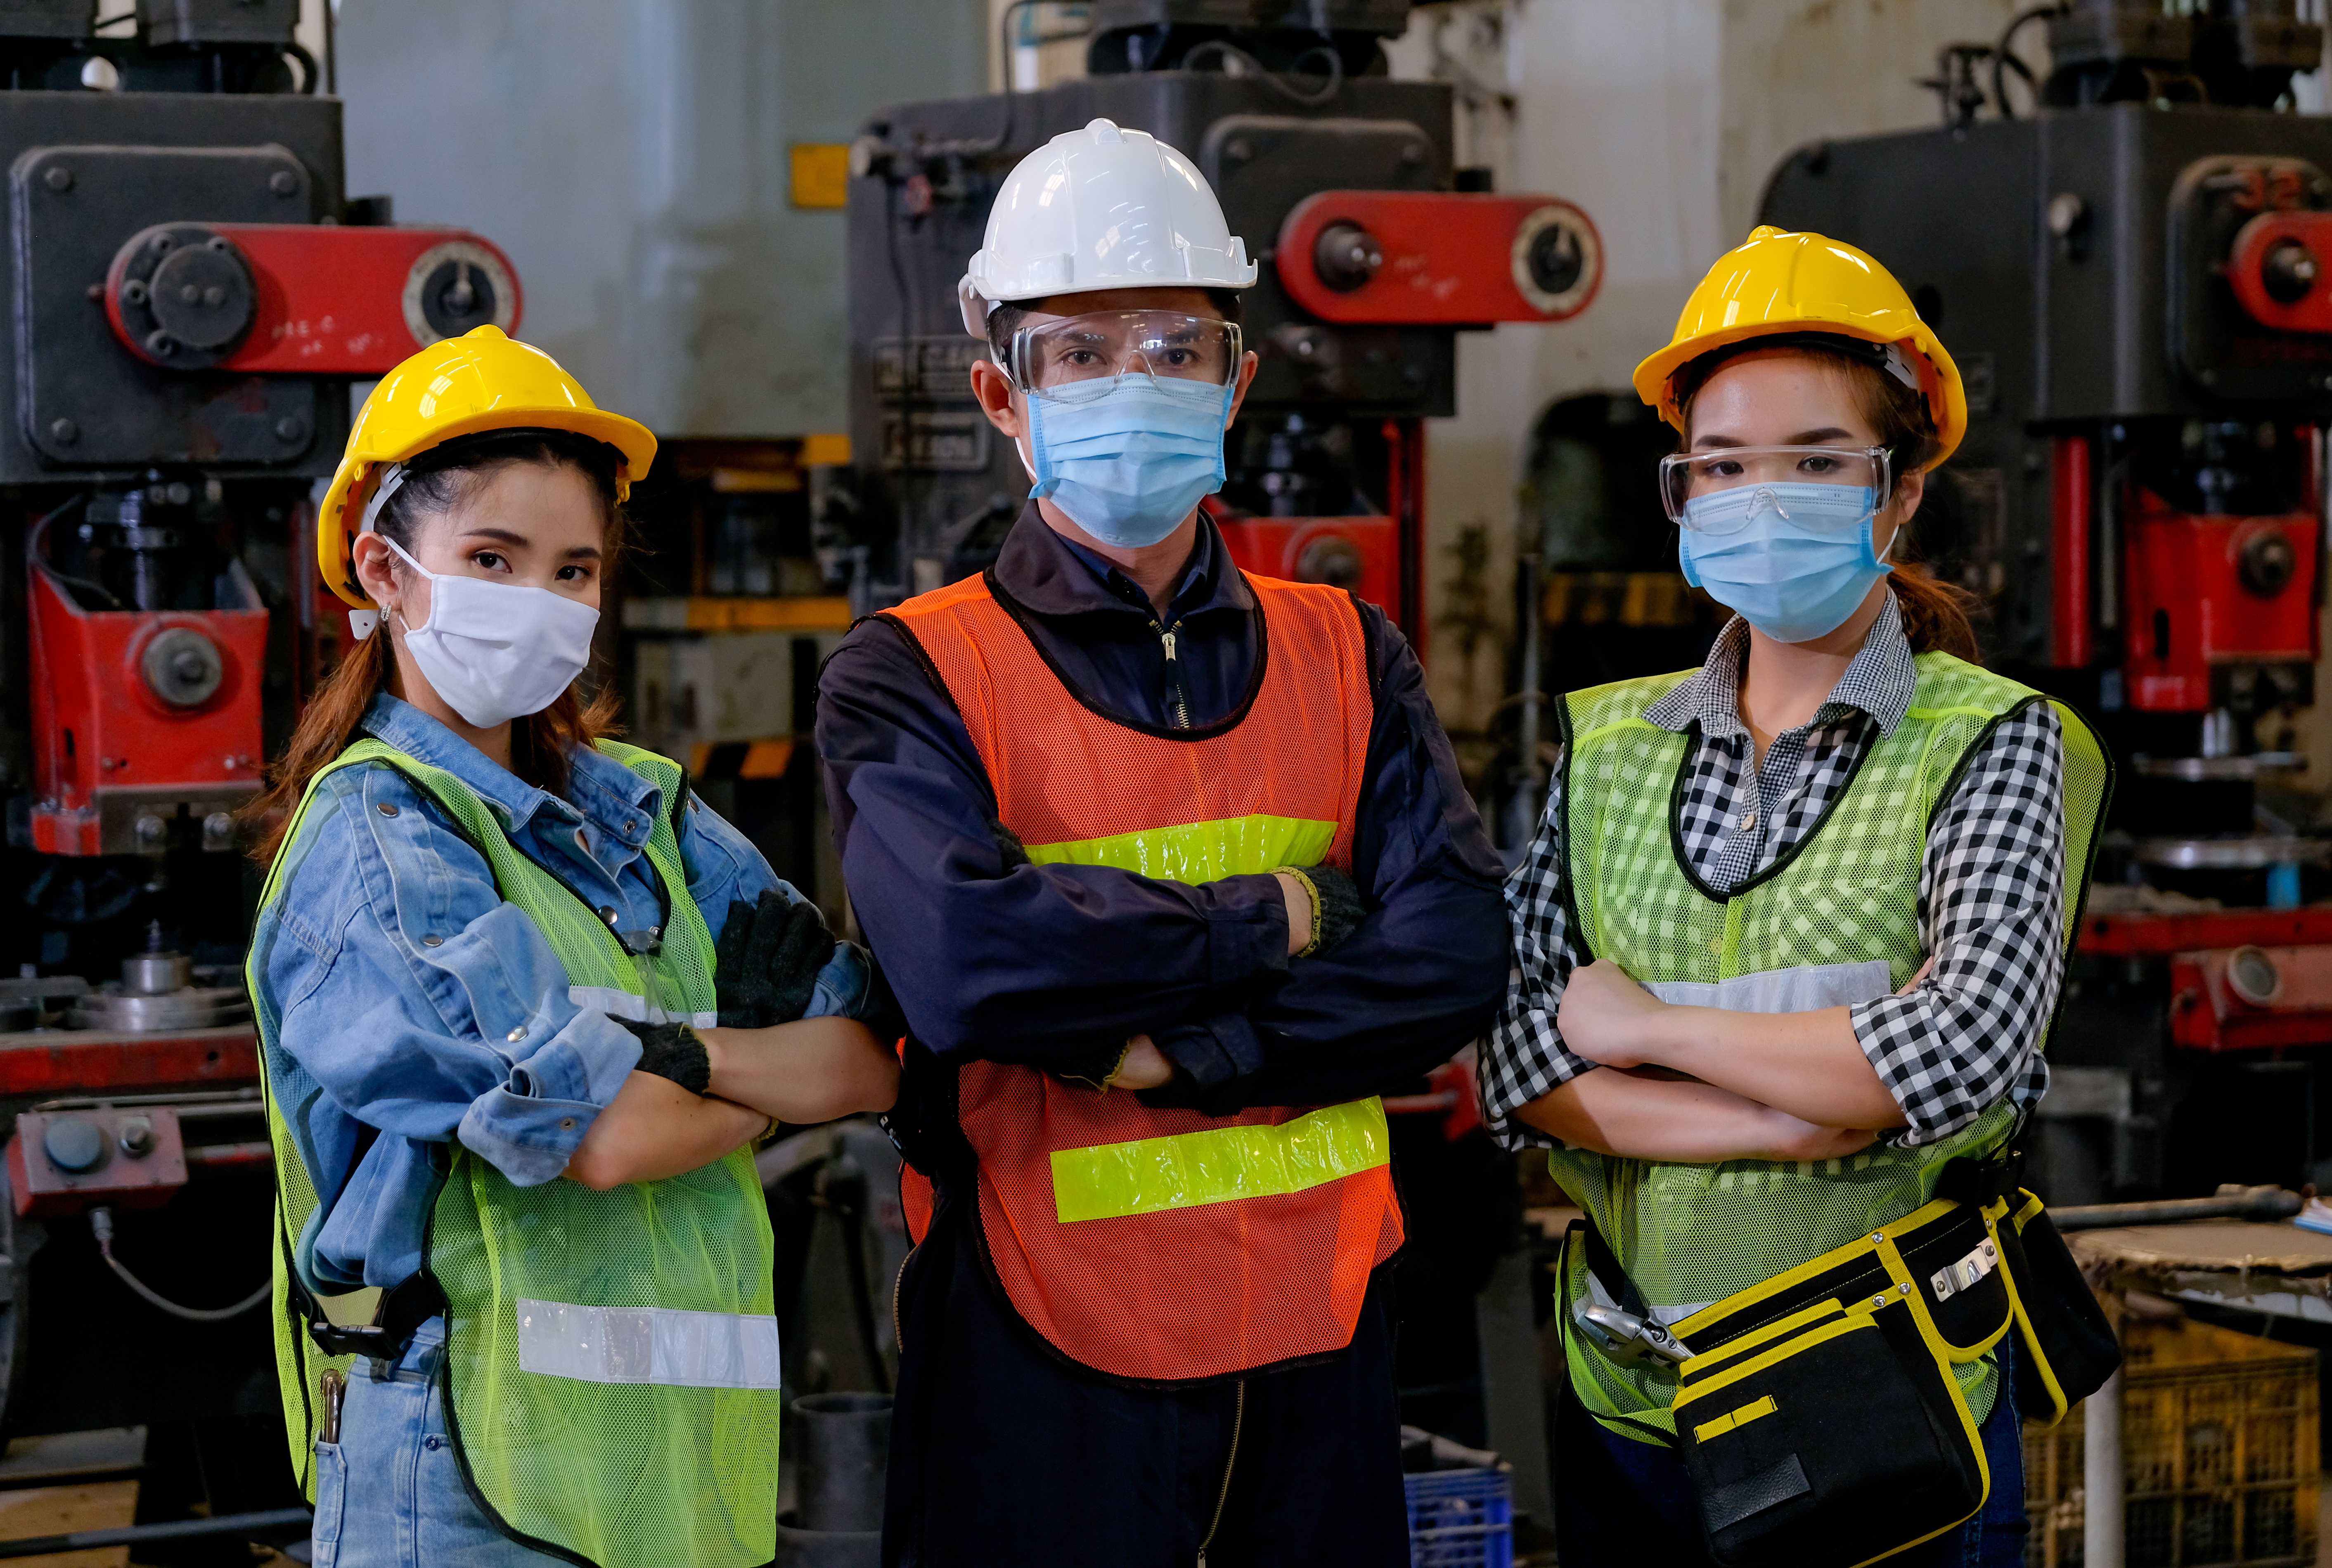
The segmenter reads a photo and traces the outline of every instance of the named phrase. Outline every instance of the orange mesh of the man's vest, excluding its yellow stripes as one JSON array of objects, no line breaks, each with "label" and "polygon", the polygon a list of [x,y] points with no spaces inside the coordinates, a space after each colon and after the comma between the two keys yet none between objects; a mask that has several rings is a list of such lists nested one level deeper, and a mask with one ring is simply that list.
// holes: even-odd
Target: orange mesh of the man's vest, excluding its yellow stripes
[{"label": "orange mesh of the man's vest, excluding its yellow stripes", "polygon": [[[1325,862],[1350,867],[1374,720],[1360,615],[1336,589],[1248,585],[1264,613],[1255,699],[1229,727],[1192,736],[1089,711],[977,578],[893,615],[944,680],[1024,843],[1278,815],[1334,822]],[[1031,1067],[965,1065],[958,1121],[979,1156],[979,1223],[1012,1307],[1068,1358],[1138,1382],[1224,1377],[1350,1344],[1369,1272],[1402,1244],[1388,1167],[1075,1223],[1054,1200],[1056,1149],[1278,1125],[1308,1109],[1217,1118]]]}]

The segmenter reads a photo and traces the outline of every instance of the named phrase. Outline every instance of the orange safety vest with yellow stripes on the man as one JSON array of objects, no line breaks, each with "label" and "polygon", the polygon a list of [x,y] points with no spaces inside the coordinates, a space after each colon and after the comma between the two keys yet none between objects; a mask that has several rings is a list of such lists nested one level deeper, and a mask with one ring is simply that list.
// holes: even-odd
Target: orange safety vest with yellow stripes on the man
[{"label": "orange safety vest with yellow stripes on the man", "polygon": [[[1374,720],[1360,610],[1329,587],[1248,587],[1262,606],[1252,694],[1187,732],[1094,713],[982,578],[891,617],[947,685],[1033,862],[1185,883],[1348,869]],[[1402,1244],[1378,1100],[1203,1116],[975,1060],[956,1116],[1005,1295],[1112,1377],[1194,1382],[1339,1351],[1371,1270]],[[912,1170],[905,1198],[928,1223]]]}]

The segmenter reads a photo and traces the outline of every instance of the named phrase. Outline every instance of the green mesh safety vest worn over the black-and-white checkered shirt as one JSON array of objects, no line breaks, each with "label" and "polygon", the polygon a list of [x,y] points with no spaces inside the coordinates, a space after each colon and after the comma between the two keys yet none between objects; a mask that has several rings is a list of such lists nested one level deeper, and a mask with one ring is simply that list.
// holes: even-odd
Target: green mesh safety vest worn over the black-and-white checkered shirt
[{"label": "green mesh safety vest worn over the black-and-white checkered shirt", "polygon": [[[1735,1011],[1810,1011],[1884,997],[1926,962],[1919,867],[1933,813],[1992,727],[2038,692],[1943,652],[1915,659],[1919,683],[1894,734],[1863,753],[1814,832],[1730,897],[1684,864],[1674,799],[1691,736],[1644,711],[1693,671],[1623,680],[1565,699],[1565,890],[1581,955],[1609,958],[1667,1002]],[[2071,944],[2110,764],[2064,704],[2064,941]],[[1936,1195],[1954,1156],[1985,1153],[2015,1123],[2006,1100],[1938,1144],[1873,1144],[1842,1160],[1665,1165],[1558,1149],[1548,1167],[1604,1235],[1663,1323],[1772,1279],[1887,1226]],[[1586,1260],[1565,1263],[1565,1302],[1595,1291]],[[1616,1305],[1616,1302],[1607,1302]],[[1665,1365],[1621,1368],[1569,1333],[1581,1403],[1611,1431],[1674,1438]],[[1691,1342],[1691,1335],[1686,1335]],[[1954,1368],[1978,1421],[1992,1412],[1996,1363]]]}]

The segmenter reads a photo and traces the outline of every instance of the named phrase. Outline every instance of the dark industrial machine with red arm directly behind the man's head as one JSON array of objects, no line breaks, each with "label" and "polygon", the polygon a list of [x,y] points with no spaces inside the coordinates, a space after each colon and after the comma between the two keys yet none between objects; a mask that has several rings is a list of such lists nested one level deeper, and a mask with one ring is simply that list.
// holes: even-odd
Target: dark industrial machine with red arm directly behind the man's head
[{"label": "dark industrial machine with red arm directly behind the man's head", "polygon": [[1560,322],[1602,282],[1588,217],[1453,168],[1451,89],[1395,82],[1409,0],[1101,0],[1089,77],[895,105],[854,147],[858,610],[993,559],[1028,478],[970,394],[956,280],[996,182],[1096,116],[1187,151],[1262,280],[1262,373],[1210,501],[1241,566],[1336,582],[1423,631],[1423,419],[1455,412],[1458,333]]}]

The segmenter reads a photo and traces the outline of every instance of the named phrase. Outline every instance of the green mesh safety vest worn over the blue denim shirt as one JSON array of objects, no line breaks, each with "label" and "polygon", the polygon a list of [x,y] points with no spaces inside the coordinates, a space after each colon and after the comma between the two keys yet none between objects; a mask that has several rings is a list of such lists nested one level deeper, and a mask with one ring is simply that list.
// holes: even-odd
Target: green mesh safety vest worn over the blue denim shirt
[{"label": "green mesh safety vest worn over the blue denim shirt", "polygon": [[[679,764],[632,746],[599,750],[683,799]],[[669,920],[662,951],[632,955],[557,876],[522,855],[494,811],[459,778],[366,739],[343,767],[392,767],[452,818],[485,855],[571,981],[569,997],[625,1018],[709,1023],[714,944],[688,897],[672,813],[648,839]],[[261,909],[310,850],[301,820],[310,781],[275,857]],[[278,1037],[273,1000],[257,1002],[261,1081],[275,1144],[275,1365],[292,1463],[312,1496],[317,1375],[354,1358],[322,1356],[292,1298],[317,1212],[315,1172],[289,1121],[322,1093]],[[429,1270],[445,1293],[445,1421],[471,1496],[508,1535],[604,1568],[751,1568],[777,1554],[779,1347],[770,1212],[749,1149],[686,1177],[595,1193],[578,1181],[513,1186],[459,1144],[429,1219]]]}]

